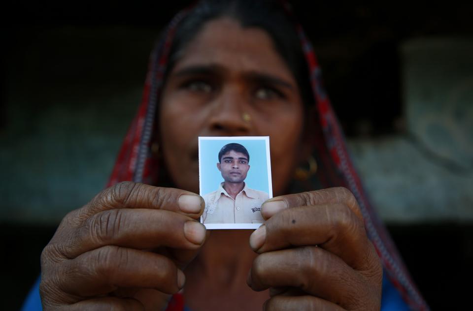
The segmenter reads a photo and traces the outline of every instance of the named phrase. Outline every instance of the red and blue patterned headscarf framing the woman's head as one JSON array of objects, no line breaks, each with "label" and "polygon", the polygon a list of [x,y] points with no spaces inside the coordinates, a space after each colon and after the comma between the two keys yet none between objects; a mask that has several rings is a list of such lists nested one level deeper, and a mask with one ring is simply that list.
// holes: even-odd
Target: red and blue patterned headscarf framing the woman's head
[{"label": "red and blue patterned headscarf framing the woman's head", "polygon": [[[324,91],[321,69],[312,45],[305,36],[301,25],[295,21],[290,6],[287,3],[282,5],[290,19],[295,23],[299,35],[315,99],[316,118],[318,120],[314,120],[314,124],[320,125],[314,130],[311,137],[315,146],[314,157],[317,158],[319,169],[313,179],[298,185],[298,189],[315,190],[320,187],[336,186],[348,188],[355,195],[360,205],[368,237],[381,258],[384,273],[412,310],[429,310],[411,280],[386,228],[373,210],[368,195],[353,166],[340,124],[332,109],[329,97]],[[174,32],[179,22],[188,12],[189,9],[181,11],[172,19],[164,37],[151,53],[141,105],[125,136],[108,181],[108,187],[121,181],[134,181],[151,185],[160,185],[163,182],[158,180],[160,167],[151,153],[153,143],[157,143],[157,137],[153,135],[157,127],[157,101],[163,85],[163,77]],[[173,304],[172,310],[182,310],[182,297],[174,297]]]}]

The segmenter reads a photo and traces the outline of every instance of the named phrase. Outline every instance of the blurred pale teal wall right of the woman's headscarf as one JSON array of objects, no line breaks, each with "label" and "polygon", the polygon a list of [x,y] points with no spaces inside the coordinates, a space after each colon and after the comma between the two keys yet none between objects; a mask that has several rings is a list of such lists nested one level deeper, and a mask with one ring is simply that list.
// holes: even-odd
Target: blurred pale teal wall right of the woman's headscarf
[{"label": "blurred pale teal wall right of the woman's headscarf", "polygon": [[404,128],[349,140],[362,180],[387,222],[472,222],[473,38],[409,39],[399,52]]}]

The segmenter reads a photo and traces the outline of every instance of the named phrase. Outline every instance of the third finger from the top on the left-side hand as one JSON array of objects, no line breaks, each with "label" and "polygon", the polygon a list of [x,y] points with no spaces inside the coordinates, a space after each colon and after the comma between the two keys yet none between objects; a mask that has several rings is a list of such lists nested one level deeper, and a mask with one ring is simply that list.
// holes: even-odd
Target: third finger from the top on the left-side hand
[{"label": "third finger from the top on the left-side hand", "polygon": [[185,282],[184,274],[169,258],[116,246],[86,252],[56,269],[61,270],[56,274],[57,287],[78,297],[108,294],[120,287],[152,288],[174,294]]}]

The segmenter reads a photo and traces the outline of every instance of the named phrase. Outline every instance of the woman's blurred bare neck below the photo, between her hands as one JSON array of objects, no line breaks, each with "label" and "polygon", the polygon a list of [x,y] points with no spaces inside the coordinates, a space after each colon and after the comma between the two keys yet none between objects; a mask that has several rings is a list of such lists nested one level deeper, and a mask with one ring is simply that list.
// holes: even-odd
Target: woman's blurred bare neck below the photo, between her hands
[{"label": "woman's blurred bare neck below the photo, between her hands", "polygon": [[254,292],[246,284],[257,256],[249,247],[251,233],[252,230],[212,230],[198,257],[185,271],[184,296],[191,310],[221,310],[221,304],[226,310],[261,310],[268,293]]}]

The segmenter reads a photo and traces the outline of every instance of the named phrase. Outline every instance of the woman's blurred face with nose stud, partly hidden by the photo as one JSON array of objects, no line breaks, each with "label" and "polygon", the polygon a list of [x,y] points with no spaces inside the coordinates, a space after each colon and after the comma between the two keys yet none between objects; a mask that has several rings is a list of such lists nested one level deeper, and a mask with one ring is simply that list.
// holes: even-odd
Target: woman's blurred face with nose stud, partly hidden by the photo
[{"label": "woman's blurred face with nose stud, partly hidden by the photo", "polygon": [[273,192],[287,187],[303,103],[265,31],[231,18],[205,24],[169,73],[160,109],[162,152],[176,187],[199,192],[198,136],[270,136]]}]

